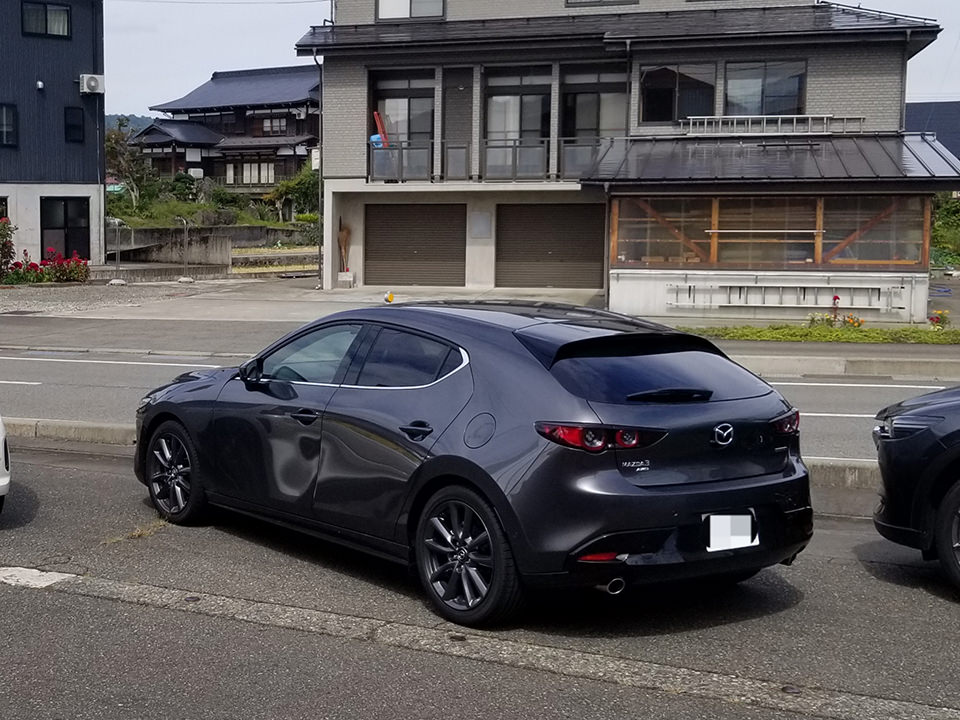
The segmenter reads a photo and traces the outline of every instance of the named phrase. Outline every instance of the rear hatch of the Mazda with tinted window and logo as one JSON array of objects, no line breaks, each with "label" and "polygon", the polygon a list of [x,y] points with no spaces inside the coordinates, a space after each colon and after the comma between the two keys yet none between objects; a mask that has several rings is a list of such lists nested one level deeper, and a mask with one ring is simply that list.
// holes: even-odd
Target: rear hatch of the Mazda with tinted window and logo
[{"label": "rear hatch of the Mazda with tinted window and logo", "polygon": [[[783,472],[796,437],[774,422],[792,412],[767,383],[709,342],[680,333],[620,334],[559,348],[551,374],[613,429],[649,429],[652,444],[616,448],[639,486]],[[659,440],[656,438],[659,437]]]}]

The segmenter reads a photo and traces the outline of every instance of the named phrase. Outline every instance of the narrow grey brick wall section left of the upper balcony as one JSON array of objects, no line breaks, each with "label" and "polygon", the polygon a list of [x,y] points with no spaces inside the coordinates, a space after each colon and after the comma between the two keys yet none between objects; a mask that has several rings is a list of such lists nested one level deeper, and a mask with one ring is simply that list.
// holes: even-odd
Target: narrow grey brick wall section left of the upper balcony
[{"label": "narrow grey brick wall section left of the upper balcony", "polygon": [[323,63],[324,177],[366,177],[367,95],[363,65],[336,58]]}]

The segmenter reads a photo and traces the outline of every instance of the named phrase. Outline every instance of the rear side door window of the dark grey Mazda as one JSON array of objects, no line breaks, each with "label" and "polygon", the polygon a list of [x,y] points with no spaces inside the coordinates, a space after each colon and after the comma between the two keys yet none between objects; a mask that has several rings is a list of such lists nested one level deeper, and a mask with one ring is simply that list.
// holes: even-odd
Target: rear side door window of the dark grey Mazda
[{"label": "rear side door window of the dark grey Mazda", "polygon": [[[451,353],[446,343],[422,335],[384,328],[367,353],[357,385],[364,387],[415,387],[438,377]],[[454,366],[456,367],[456,366]]]}]

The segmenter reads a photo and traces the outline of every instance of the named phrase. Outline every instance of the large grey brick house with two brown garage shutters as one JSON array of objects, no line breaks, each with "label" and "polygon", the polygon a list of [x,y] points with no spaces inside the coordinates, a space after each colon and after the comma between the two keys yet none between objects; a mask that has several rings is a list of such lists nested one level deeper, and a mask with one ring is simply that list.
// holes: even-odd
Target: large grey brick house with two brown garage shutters
[{"label": "large grey brick house with two brown garage shutters", "polygon": [[[926,314],[930,198],[903,132],[936,22],[814,0],[338,0],[324,285],[592,287],[682,319]],[[375,136],[375,137],[374,137]]]}]

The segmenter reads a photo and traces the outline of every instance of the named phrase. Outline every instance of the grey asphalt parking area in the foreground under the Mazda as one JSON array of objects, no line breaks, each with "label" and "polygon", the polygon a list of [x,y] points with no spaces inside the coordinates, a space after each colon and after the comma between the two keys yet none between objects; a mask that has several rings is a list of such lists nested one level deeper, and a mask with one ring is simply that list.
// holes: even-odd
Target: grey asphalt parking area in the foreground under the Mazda
[{"label": "grey asphalt parking area in the foreground under the Mazda", "polygon": [[5,719],[960,718],[956,597],[869,524],[821,522],[795,565],[724,592],[538,596],[463,631],[386,562],[228,513],[159,523],[128,458],[13,471]]}]

